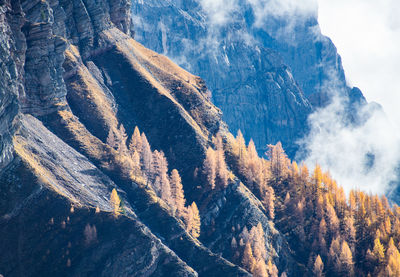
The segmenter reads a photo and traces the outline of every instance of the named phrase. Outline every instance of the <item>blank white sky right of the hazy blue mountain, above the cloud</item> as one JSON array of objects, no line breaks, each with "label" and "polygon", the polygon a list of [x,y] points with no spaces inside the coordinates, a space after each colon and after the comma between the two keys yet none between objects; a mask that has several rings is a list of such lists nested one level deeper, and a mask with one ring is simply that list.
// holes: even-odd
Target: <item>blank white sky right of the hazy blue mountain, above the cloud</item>
[{"label": "blank white sky right of the hazy blue mountain, above the cloud", "polygon": [[322,32],[338,48],[349,84],[400,127],[400,1],[318,1]]}]

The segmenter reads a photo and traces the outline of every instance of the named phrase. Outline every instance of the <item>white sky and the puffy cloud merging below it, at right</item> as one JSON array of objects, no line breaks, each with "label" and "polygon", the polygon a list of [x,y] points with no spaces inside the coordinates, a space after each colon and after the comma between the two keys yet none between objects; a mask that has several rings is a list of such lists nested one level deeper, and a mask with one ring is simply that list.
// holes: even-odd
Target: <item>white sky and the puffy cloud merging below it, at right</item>
[{"label": "white sky and the puffy cloud merging below it, at right", "polygon": [[[309,117],[311,131],[300,142],[308,152],[304,162],[329,170],[346,192],[388,192],[399,185],[400,2],[318,1],[321,31],[342,56],[349,86],[359,87],[384,113],[373,105],[360,108],[365,123],[348,126],[345,100],[333,91],[332,104]],[[326,84],[326,89],[332,87]]]}]

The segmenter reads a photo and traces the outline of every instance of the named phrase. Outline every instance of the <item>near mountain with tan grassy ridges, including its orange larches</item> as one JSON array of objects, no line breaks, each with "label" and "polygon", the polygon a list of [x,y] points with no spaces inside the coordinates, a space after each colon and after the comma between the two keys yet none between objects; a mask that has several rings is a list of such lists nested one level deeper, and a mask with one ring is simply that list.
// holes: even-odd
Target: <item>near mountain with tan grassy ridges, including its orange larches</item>
[{"label": "near mountain with tan grassy ridges, including its orange larches", "polygon": [[[131,10],[0,0],[0,275],[398,276],[397,206],[280,143],[261,158],[203,79],[133,39]],[[311,109],[260,53],[265,99]]]}]

